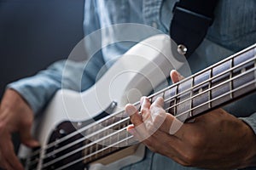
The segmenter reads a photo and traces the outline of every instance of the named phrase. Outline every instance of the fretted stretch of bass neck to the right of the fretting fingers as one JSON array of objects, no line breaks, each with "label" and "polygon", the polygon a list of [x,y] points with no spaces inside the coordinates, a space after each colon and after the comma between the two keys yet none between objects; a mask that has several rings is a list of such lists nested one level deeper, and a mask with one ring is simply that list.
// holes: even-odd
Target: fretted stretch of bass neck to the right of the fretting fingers
[{"label": "fretted stretch of bass neck to the right of the fretting fingers", "polygon": [[182,122],[256,90],[256,44],[177,84],[153,94],[165,99],[166,112]]}]

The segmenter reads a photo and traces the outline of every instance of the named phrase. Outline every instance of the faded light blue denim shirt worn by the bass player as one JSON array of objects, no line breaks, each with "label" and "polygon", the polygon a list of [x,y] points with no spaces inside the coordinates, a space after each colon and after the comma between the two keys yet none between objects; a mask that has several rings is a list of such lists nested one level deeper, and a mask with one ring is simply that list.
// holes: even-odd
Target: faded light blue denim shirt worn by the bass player
[{"label": "faded light blue denim shirt worn by the bass player", "polygon": [[[172,8],[177,0],[86,0],[84,4],[84,36],[90,33],[121,23],[137,23],[152,26],[158,31],[140,32],[140,39],[159,32],[169,34],[172,19]],[[194,73],[246,48],[256,42],[256,1],[255,0],[220,0],[215,10],[215,20],[207,32],[207,37],[189,57],[189,66]],[[124,31],[125,32],[125,31]],[[117,38],[119,32],[102,32],[101,41]],[[136,42],[119,42],[102,48],[85,71],[82,82],[73,75],[83,71],[84,65],[73,61],[59,61],[34,77],[28,77],[9,84],[31,105],[35,113],[42,111],[55,92],[63,88],[86,90],[96,82],[96,74],[102,65],[107,68],[113,65],[121,54],[124,54]],[[94,44],[85,43],[90,51]],[[110,62],[109,62],[110,61]],[[69,76],[61,79],[61,71],[66,64]],[[79,84],[81,82],[81,84]],[[81,86],[81,88],[80,88]],[[241,117],[256,133],[255,112],[256,95],[241,99],[224,109]],[[147,150],[145,159],[125,169],[187,169],[165,156]]]}]

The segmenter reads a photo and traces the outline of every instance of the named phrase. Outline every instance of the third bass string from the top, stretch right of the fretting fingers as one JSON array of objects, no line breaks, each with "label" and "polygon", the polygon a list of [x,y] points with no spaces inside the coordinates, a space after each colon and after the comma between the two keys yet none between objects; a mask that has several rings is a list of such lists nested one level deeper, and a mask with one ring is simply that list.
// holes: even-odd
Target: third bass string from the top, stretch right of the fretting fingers
[{"label": "third bass string from the top, stretch right of the fretting fingers", "polygon": [[[216,86],[213,86],[212,88],[208,88],[207,90],[205,90],[205,91],[202,92],[201,94],[205,94],[205,93],[207,93],[208,91],[210,91],[210,90],[212,90],[212,89],[214,89],[214,88],[219,88],[221,85],[224,85],[224,84],[227,83],[227,82],[236,80],[237,78],[242,77],[242,76],[248,74],[248,73],[251,72],[251,71],[256,71],[256,67],[253,68],[253,69],[250,70],[250,71],[243,72],[243,73],[241,73],[240,75],[237,75],[236,77],[232,77],[232,78],[229,79],[229,80],[226,80],[226,81],[224,81],[224,82],[221,82],[221,83],[217,84]],[[195,97],[198,97],[198,96],[200,96],[201,94],[195,94],[192,98],[194,99]],[[172,99],[172,98],[169,98],[169,101],[170,101],[171,99]],[[188,101],[188,100],[189,100],[189,99],[184,99],[182,102],[179,102],[177,105],[181,105],[181,104],[183,104],[184,102],[186,102],[186,101]],[[172,109],[173,107],[175,107],[175,106],[177,106],[177,105],[172,105],[172,106],[169,107],[168,109]]]}]

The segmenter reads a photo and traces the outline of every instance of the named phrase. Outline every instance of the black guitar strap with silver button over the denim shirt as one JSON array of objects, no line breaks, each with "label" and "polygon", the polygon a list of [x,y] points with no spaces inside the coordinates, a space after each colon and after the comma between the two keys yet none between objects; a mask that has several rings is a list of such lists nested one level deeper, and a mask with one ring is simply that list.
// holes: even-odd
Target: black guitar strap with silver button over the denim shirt
[{"label": "black guitar strap with silver button over the denim shirt", "polygon": [[175,3],[170,36],[177,51],[189,57],[201,44],[214,20],[218,0],[179,0]]}]

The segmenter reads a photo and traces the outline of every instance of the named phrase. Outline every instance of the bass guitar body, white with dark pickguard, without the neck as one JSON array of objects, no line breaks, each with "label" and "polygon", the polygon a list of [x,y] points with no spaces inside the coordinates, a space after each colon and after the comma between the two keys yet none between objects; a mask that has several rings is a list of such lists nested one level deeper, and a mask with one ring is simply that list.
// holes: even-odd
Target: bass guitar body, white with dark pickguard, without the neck
[{"label": "bass guitar body, white with dark pickguard, without the neck", "polygon": [[[66,140],[65,144],[64,142],[63,144],[58,143],[55,144],[57,146],[52,146],[49,150],[43,149],[51,146],[55,141],[79,131],[82,127],[90,126],[108,114],[124,110],[127,103],[137,102],[143,95],[148,95],[162,82],[167,85],[166,77],[169,77],[172,69],[177,70],[188,65],[186,62],[183,63],[173,58],[170,47],[171,41],[166,35],[150,37],[139,42],[122,56],[96,82],[95,86],[83,93],[67,89],[58,91],[44,113],[36,120],[34,135],[41,144],[41,151],[37,155],[37,163],[32,166],[26,165],[26,169],[70,169],[71,167],[74,169],[84,169],[85,167],[90,169],[119,169],[142,160],[144,146],[136,144],[125,147],[124,150],[117,150],[114,154],[101,156],[101,159],[87,161],[89,163],[84,158],[85,161],[79,161],[70,167],[61,167],[86,156],[84,150],[80,150],[79,154],[72,154],[72,152],[90,143],[83,140],[83,142],[74,144],[60,153],[53,154],[54,151],[60,150],[65,144],[75,142],[76,139],[84,138],[86,135],[84,133],[74,135],[73,138]],[[52,156],[43,159],[49,153]],[[31,151],[24,147],[20,149],[21,157],[27,157],[31,154]],[[62,161],[58,161],[61,156],[67,154],[70,155]],[[54,163],[47,165],[47,162],[51,161]]]}]

